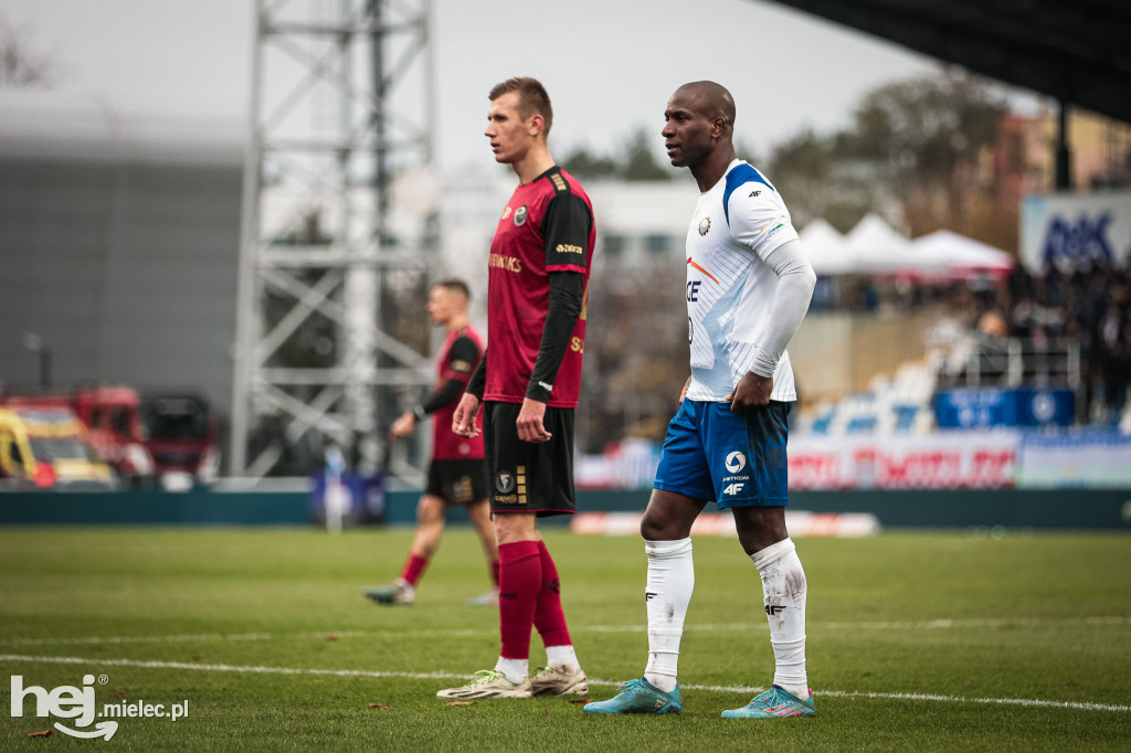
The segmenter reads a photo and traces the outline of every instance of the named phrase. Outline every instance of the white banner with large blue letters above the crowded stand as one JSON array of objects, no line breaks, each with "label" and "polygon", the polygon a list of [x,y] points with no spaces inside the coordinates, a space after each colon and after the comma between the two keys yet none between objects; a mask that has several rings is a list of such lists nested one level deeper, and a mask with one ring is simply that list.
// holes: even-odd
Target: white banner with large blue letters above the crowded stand
[{"label": "white banner with large blue letters above the crowded stand", "polygon": [[1131,191],[1025,197],[1020,257],[1031,272],[1050,265],[1071,270],[1086,259],[1124,268],[1131,259]]}]

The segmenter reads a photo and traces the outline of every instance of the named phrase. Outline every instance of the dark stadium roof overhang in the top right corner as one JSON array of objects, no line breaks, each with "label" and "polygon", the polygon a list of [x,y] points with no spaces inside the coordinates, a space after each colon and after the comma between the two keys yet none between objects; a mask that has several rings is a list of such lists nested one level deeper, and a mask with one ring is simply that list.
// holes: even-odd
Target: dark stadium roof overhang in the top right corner
[{"label": "dark stadium roof overhang in the top right corner", "polygon": [[1125,0],[776,2],[1131,122],[1131,2]]}]

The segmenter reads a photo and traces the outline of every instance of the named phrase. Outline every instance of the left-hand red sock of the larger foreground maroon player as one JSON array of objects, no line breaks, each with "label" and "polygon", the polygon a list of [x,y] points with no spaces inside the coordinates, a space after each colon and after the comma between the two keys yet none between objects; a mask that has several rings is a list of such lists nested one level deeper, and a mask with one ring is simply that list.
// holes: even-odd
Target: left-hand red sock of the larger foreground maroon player
[{"label": "left-hand red sock of the larger foreground maroon player", "polygon": [[530,658],[530,625],[542,588],[542,560],[537,542],[513,542],[499,547],[499,632],[506,659]]}]

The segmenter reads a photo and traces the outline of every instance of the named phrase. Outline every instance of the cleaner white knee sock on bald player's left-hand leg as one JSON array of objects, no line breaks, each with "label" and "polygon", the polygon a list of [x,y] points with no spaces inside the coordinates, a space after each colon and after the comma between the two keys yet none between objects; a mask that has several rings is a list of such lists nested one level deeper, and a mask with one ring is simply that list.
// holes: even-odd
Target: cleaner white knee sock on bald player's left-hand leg
[{"label": "cleaner white knee sock on bald player's left-hand leg", "polygon": [[644,677],[670,693],[675,690],[680,639],[688,615],[691,591],[696,587],[691,538],[675,542],[645,542],[648,554],[648,667]]}]

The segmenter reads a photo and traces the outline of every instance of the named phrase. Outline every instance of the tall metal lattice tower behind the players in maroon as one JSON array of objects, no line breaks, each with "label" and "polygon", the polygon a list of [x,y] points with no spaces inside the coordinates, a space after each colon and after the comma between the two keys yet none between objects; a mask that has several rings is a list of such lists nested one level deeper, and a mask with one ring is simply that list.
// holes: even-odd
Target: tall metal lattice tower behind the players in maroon
[{"label": "tall metal lattice tower behind the players in maroon", "polygon": [[328,443],[372,467],[397,390],[431,382],[430,5],[258,0],[233,475],[304,473]]}]

